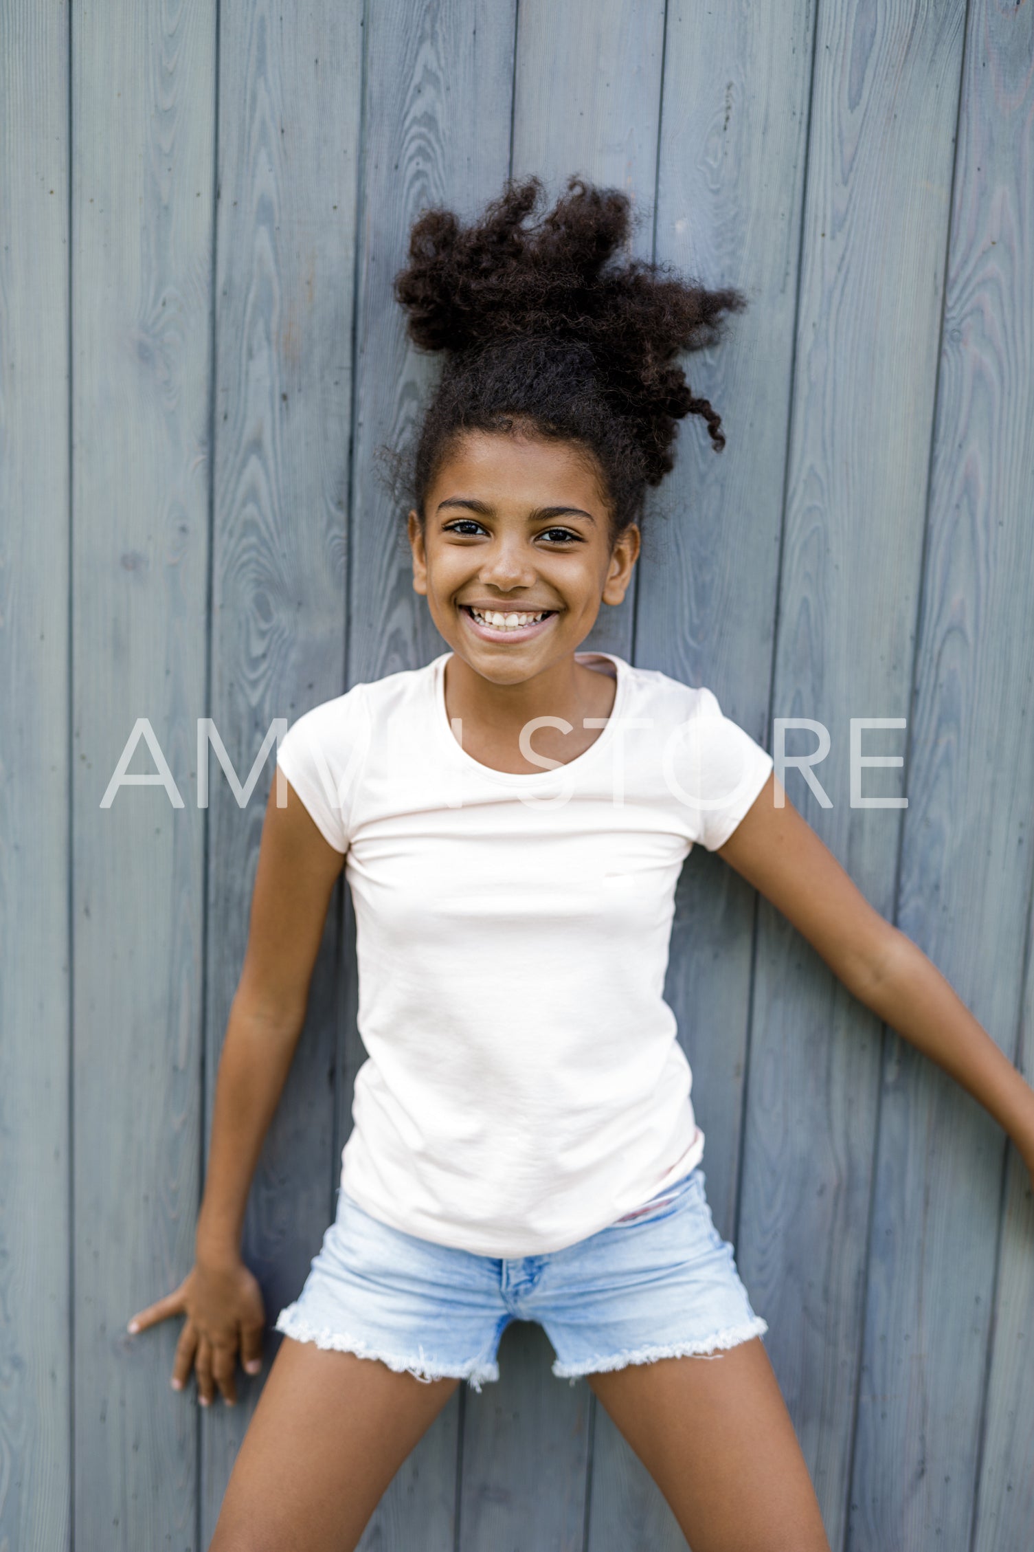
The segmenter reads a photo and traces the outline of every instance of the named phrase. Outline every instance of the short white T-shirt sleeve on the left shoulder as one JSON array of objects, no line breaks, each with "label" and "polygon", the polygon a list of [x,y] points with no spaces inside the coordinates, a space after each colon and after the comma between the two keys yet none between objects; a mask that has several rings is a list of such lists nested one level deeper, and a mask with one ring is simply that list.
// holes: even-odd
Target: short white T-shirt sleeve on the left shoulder
[{"label": "short white T-shirt sleeve on the left shoulder", "polygon": [[276,764],[304,802],[322,838],[347,852],[355,796],[371,740],[364,684],[313,706],[281,739]]}]

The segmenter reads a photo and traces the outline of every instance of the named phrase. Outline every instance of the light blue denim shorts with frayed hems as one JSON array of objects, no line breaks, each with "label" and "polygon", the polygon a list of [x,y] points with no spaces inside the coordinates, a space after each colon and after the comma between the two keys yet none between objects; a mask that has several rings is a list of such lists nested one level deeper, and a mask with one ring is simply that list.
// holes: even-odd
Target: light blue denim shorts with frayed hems
[{"label": "light blue denim shorts with frayed hems", "polygon": [[344,1190],[301,1296],[276,1329],[419,1380],[499,1378],[512,1321],[535,1321],[577,1380],[626,1364],[716,1355],[767,1332],[718,1234],[704,1172],[589,1238],[498,1260],[372,1218]]}]

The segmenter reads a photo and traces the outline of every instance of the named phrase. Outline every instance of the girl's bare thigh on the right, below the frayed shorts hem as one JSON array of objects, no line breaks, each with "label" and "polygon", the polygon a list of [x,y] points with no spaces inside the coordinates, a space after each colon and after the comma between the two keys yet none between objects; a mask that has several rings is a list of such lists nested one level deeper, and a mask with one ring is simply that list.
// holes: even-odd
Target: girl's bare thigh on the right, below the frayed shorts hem
[{"label": "girl's bare thigh on the right, below the frayed shorts hem", "polygon": [[588,1378],[693,1552],[829,1552],[760,1338]]}]

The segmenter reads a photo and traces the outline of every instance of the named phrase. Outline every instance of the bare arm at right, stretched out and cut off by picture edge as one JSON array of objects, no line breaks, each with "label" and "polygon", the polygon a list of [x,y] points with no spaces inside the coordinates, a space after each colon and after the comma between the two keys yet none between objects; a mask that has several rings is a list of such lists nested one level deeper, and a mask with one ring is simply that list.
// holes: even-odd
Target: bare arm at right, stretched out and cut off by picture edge
[{"label": "bare arm at right, stretched out and cut off by picture edge", "polygon": [[719,847],[891,1029],[944,1068],[1009,1133],[1034,1180],[1034,1090],[941,972],[873,909],[794,809],[774,802],[775,774]]}]

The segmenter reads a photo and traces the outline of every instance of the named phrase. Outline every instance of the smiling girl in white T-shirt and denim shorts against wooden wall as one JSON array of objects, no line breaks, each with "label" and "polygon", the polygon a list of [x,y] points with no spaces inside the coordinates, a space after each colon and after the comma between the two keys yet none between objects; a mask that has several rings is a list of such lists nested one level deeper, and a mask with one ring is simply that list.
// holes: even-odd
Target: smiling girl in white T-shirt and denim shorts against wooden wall
[{"label": "smiling girl in white T-shirt and denim shorts against wooden wall", "polygon": [[[963,1083],[1034,1172],[1034,1091],[797,815],[707,689],[580,652],[625,598],[676,421],[721,422],[679,351],[735,292],[619,261],[623,194],[535,180],[412,230],[397,295],[445,369],[409,512],[450,650],[316,706],[279,750],[223,1044],[197,1260],[130,1322],[184,1315],[172,1383],[234,1401],[264,1310],[240,1260],[262,1138],[343,866],[360,1031],[336,1220],[237,1457],[212,1552],[346,1552],[460,1380],[539,1321],[695,1552],[828,1547],[704,1193],[662,999],[693,844],[772,900],[881,1020]],[[276,788],[281,785],[274,784]]]}]

